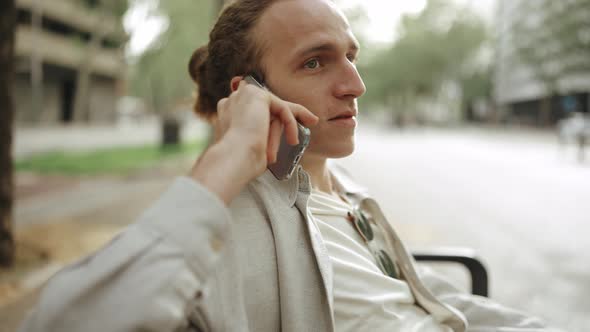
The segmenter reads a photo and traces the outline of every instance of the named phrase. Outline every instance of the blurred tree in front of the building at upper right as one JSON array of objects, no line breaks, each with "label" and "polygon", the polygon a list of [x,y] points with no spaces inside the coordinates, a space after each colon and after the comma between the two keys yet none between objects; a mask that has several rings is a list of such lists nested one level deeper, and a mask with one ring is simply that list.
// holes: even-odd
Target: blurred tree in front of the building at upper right
[{"label": "blurred tree in front of the building at upper right", "polygon": [[590,72],[590,0],[522,1],[525,13],[513,27],[517,59],[529,68],[545,90],[539,122],[547,125],[551,100],[563,79]]}]

